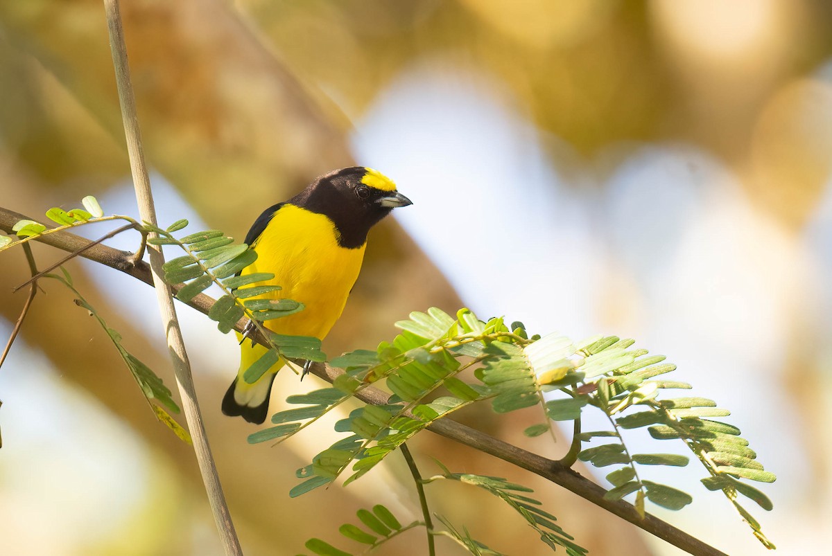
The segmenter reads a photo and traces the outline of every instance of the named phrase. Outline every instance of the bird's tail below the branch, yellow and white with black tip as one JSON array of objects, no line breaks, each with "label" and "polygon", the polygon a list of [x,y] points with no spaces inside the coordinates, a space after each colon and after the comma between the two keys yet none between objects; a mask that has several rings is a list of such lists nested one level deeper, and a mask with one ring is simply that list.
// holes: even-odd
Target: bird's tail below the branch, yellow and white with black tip
[{"label": "bird's tail below the branch, yellow and white with black tip", "polygon": [[265,416],[269,412],[271,385],[275,381],[277,371],[280,371],[280,367],[283,367],[285,363],[280,359],[257,381],[249,384],[243,379],[243,374],[251,363],[257,361],[265,353],[266,348],[244,344],[240,351],[242,352],[240,370],[231,382],[228,391],[225,392],[225,397],[222,399],[222,412],[227,416],[242,416],[245,421],[260,425],[265,421]]}]

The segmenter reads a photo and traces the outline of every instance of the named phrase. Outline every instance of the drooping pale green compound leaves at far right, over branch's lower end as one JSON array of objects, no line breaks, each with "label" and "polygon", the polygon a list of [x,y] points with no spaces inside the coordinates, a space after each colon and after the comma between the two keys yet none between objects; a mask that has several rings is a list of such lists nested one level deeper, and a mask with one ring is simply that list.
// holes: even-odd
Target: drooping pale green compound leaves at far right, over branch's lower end
[{"label": "drooping pale green compound leaves at far right, over branch's lower end", "polygon": [[[664,362],[664,356],[648,356],[645,349],[630,349],[633,343],[619,337],[595,337],[580,342],[574,349],[568,348],[572,369],[560,377],[542,377],[542,381],[548,382],[544,389],[561,390],[569,396],[547,402],[547,416],[552,420],[573,419],[575,409],[587,405],[604,412],[611,430],[582,432],[577,440],[607,438],[612,442],[582,450],[578,457],[597,467],[623,465],[607,475],[614,488],[606,497],[620,499],[636,493],[636,509],[641,514],[645,511],[645,499],[667,509],[681,509],[691,503],[690,494],[641,479],[639,475],[641,466],[684,466],[688,458],[661,453],[631,454],[622,429],[646,426],[656,440],[682,440],[704,465],[708,476],[702,483],[706,488],[722,490],[755,537],[766,547],[774,548],[759,522],[739,503],[737,494],[754,500],[763,509],[771,509],[765,494],[742,480],[770,483],[775,475],[755,460],[754,450],[748,448],[748,441],[740,437],[738,428],[707,418],[730,415],[730,411],[717,408],[715,401],[691,396],[661,400],[665,391],[689,389],[691,385],[656,378],[676,370],[676,366]],[[635,411],[636,408],[641,411]]]}]

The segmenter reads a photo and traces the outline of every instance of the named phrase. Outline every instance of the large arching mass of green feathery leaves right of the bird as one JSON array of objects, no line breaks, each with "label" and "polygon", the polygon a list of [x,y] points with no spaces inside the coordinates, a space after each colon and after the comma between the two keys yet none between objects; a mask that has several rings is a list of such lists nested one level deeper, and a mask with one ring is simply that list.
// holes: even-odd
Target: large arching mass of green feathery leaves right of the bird
[{"label": "large arching mass of green feathery leaves right of the bird", "polygon": [[[275,426],[250,435],[252,443],[285,440],[366,386],[391,392],[388,404],[359,407],[336,424],[336,431],[346,435],[298,470],[304,481],[291,490],[292,496],[327,485],[347,471],[345,485],[357,480],[433,421],[478,401],[490,401],[498,413],[540,406],[547,420],[528,427],[530,436],[549,431],[552,421],[579,422],[582,411],[600,410],[610,429],[582,432],[575,443],[601,441],[576,450],[578,457],[599,468],[617,465],[607,475],[613,486],[608,499],[635,493],[642,515],[646,501],[667,509],[691,503],[690,494],[641,476],[651,465],[689,463],[684,455],[631,453],[622,430],[646,426],[653,438],[683,441],[706,469],[706,488],[722,490],[755,536],[773,546],[740,505],[738,494],[770,509],[765,494],[745,480],[770,482],[775,475],[755,460],[739,430],[710,419],[728,415],[715,402],[698,397],[660,399],[665,391],[691,387],[661,377],[676,369],[664,362],[665,357],[631,349],[632,340],[618,337],[593,337],[577,344],[559,334],[528,337],[521,323],[507,327],[502,318],[483,322],[467,309],[455,319],[436,308],[413,312],[396,326],[402,332],[393,342],[334,359],[330,364],[345,372],[331,388],[290,396],[290,403],[302,406],[275,414]],[[478,381],[463,381],[460,373],[469,368]],[[547,399],[553,391],[560,397]]]}]

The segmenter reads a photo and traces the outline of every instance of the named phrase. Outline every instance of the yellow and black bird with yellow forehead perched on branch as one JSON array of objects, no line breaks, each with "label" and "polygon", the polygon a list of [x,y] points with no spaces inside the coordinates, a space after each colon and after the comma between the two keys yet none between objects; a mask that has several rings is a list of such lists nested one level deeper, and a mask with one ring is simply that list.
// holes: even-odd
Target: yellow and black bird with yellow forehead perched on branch
[{"label": "yellow and black bird with yellow forehead perched on branch", "polygon": [[[323,340],[344,311],[359,276],[367,234],[397,207],[412,204],[393,180],[378,170],[351,166],[321,175],[291,199],[270,206],[255,220],[245,243],[257,259],[242,274],[273,273],[258,285],[277,285],[280,291],[260,298],[293,299],[305,308],[287,317],[264,322],[272,332]],[[245,370],[267,348],[240,337],[240,369],[222,400],[227,416],[242,416],[261,424],[280,360],[252,384]]]}]

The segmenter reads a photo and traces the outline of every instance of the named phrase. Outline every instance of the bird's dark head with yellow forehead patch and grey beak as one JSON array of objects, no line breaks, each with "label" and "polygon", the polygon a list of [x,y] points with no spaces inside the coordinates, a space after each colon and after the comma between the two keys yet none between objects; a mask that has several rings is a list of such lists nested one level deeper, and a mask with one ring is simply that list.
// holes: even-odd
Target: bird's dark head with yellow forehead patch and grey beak
[{"label": "bird's dark head with yellow forehead patch and grey beak", "polygon": [[364,166],[322,175],[290,203],[329,217],[340,234],[339,244],[348,248],[363,245],[369,229],[390,211],[412,204],[393,180]]}]

